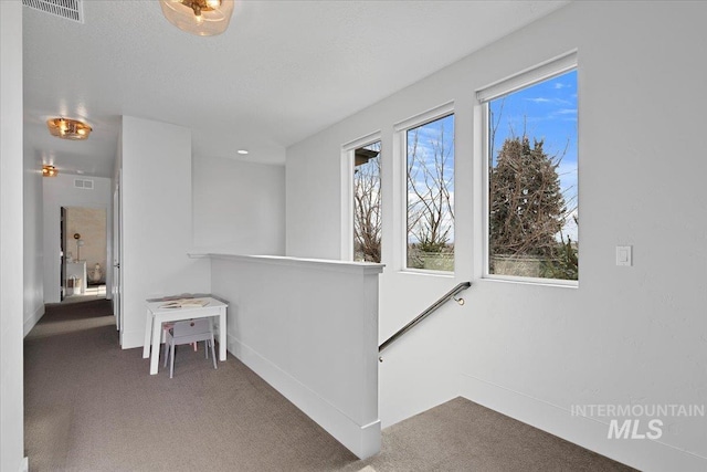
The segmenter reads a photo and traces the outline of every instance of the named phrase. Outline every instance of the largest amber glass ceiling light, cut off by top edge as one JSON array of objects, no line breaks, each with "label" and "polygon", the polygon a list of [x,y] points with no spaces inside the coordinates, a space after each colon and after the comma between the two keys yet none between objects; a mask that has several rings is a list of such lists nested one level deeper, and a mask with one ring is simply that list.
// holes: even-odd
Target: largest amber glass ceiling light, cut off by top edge
[{"label": "largest amber glass ceiling light, cut off by top edge", "polygon": [[229,28],[233,0],[159,0],[175,27],[191,34],[213,36]]}]

